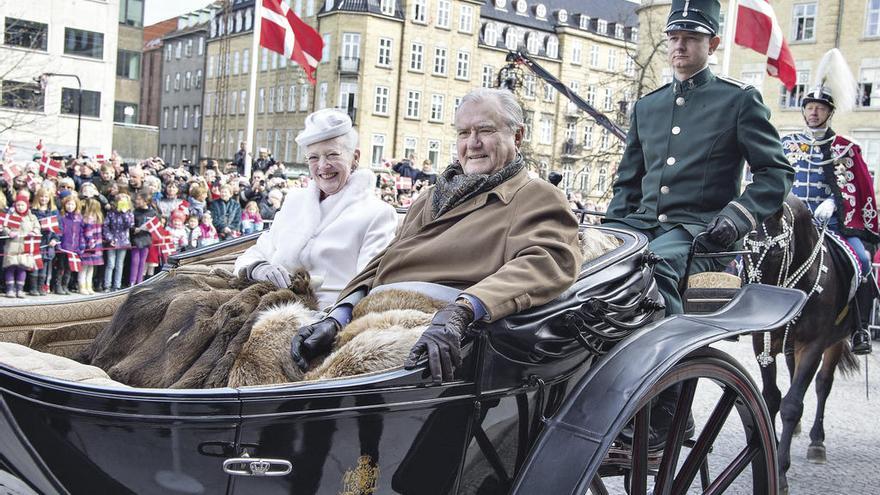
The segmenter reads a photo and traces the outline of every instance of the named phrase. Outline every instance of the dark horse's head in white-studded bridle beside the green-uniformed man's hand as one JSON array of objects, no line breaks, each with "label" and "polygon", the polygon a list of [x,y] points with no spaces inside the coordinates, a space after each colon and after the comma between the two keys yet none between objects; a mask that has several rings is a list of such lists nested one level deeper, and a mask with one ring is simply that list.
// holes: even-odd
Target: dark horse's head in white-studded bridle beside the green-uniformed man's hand
[{"label": "dark horse's head in white-studded bridle beside the green-uniformed man's hand", "polygon": [[816,237],[810,209],[789,194],[782,207],[764,219],[744,241],[745,248],[751,251],[743,259],[747,282],[781,285],[786,268],[799,254],[795,246],[812,246]]}]

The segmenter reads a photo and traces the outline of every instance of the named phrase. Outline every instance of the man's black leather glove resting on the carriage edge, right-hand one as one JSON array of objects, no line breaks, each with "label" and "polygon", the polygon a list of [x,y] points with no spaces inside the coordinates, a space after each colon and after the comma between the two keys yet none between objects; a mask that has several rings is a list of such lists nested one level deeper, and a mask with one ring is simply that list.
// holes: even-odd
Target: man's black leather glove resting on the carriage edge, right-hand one
[{"label": "man's black leather glove resting on the carriage edge, right-hand one", "polygon": [[474,310],[463,304],[453,303],[441,309],[410,350],[403,367],[415,368],[427,354],[434,383],[452,381],[455,369],[461,366],[461,337],[473,321]]}]

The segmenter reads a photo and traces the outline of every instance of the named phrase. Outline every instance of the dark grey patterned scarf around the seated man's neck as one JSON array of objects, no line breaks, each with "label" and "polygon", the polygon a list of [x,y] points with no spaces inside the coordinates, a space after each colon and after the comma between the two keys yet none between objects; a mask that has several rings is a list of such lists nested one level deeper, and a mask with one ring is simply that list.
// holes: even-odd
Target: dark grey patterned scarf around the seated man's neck
[{"label": "dark grey patterned scarf around the seated man's neck", "polygon": [[437,184],[431,197],[433,219],[436,220],[440,215],[480,193],[494,189],[516,175],[524,165],[525,161],[519,152],[510,163],[491,174],[465,174],[461,163],[456,161],[437,176]]}]

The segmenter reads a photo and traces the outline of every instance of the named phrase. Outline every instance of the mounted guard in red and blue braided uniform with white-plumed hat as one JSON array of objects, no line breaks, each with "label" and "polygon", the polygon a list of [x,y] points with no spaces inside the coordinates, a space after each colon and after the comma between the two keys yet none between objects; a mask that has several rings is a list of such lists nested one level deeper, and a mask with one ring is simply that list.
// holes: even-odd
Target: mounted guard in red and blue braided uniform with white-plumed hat
[{"label": "mounted guard in red and blue braided uniform with white-plumed hat", "polygon": [[782,138],[782,148],[795,168],[791,192],[813,212],[820,225],[841,235],[852,248],[861,267],[862,283],[856,307],[862,325],[853,328],[853,354],[871,353],[867,330],[875,289],[868,279],[871,255],[865,242],[880,241],[874,180],[852,139],[831,129],[831,117],[852,109],[857,83],[840,50],[829,50],[819,62],[815,85],[801,100],[806,127]]}]

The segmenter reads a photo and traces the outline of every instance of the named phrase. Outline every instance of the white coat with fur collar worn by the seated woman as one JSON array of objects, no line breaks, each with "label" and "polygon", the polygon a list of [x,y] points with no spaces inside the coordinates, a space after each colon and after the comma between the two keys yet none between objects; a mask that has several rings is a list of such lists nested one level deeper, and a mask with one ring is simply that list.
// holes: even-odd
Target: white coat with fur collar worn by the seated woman
[{"label": "white coat with fur collar worn by the seated woman", "polygon": [[369,170],[356,170],[345,187],[324,201],[319,201],[315,181],[291,190],[269,231],[235,261],[235,273],[257,261],[281,265],[291,273],[304,268],[323,281],[317,291],[321,307],[332,305],[394,237],[397,213],[373,194],[375,181]]}]

